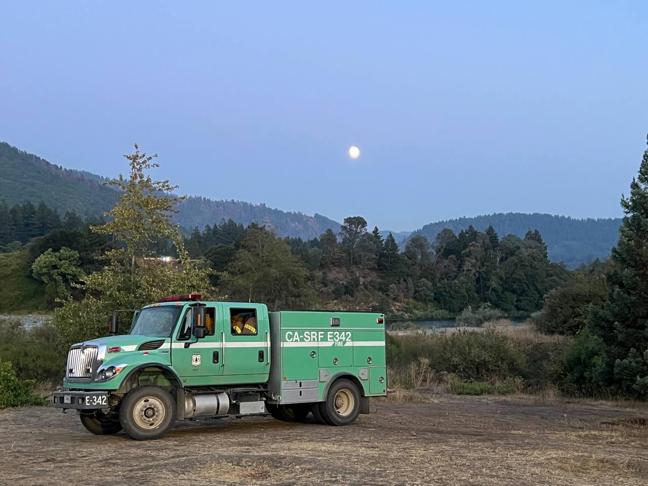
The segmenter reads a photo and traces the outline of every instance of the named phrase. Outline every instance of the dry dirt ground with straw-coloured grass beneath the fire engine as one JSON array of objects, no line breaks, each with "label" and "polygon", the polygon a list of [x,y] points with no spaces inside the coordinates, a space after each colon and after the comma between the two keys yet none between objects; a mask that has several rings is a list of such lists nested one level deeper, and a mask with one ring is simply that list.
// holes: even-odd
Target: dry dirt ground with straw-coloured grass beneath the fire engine
[{"label": "dry dirt ground with straw-coloured grass beneath the fire engine", "polygon": [[648,413],[428,395],[352,426],[178,422],[159,441],[91,435],[76,413],[0,411],[1,485],[646,485]]}]

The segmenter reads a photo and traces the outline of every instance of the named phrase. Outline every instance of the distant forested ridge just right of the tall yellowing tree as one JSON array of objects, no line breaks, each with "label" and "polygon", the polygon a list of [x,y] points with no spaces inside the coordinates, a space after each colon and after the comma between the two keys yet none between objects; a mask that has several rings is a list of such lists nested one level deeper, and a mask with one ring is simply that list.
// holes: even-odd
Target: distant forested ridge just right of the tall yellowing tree
[{"label": "distant forested ridge just right of the tall yellowing tree", "polygon": [[180,213],[176,216],[176,221],[185,228],[198,226],[203,229],[207,224],[213,226],[222,219],[231,219],[245,226],[257,222],[272,229],[277,236],[299,237],[304,240],[319,238],[329,228],[336,233],[340,231],[340,223],[321,214],[308,216],[243,201],[214,201],[190,197],[179,203],[178,209]]}]

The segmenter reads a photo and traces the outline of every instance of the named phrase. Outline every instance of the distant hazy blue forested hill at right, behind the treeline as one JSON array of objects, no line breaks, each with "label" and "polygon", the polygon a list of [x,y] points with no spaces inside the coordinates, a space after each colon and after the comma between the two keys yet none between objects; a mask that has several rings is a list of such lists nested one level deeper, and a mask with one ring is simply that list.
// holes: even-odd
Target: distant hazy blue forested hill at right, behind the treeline
[{"label": "distant hazy blue forested hill at right, behind the treeline", "polygon": [[[492,224],[500,237],[524,237],[529,229],[538,229],[547,244],[550,259],[564,262],[568,268],[576,268],[581,263],[596,258],[605,259],[610,255],[610,249],[619,237],[621,218],[576,219],[541,213],[494,213],[426,224],[411,233],[409,238],[423,235],[434,242],[434,238],[444,228],[459,233],[472,225],[475,229],[484,231],[489,224]],[[400,246],[404,248],[404,244]]]}]

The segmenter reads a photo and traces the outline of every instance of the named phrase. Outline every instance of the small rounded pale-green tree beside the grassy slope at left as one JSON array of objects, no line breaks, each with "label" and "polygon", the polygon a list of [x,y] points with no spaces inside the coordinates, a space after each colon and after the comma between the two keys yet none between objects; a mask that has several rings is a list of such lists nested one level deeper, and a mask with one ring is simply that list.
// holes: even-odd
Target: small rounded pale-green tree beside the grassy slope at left
[{"label": "small rounded pale-green tree beside the grassy slope at left", "polygon": [[79,263],[76,250],[65,246],[59,251],[48,248],[32,264],[32,274],[45,283],[45,293],[54,302],[69,297],[71,284],[83,279],[84,272]]}]

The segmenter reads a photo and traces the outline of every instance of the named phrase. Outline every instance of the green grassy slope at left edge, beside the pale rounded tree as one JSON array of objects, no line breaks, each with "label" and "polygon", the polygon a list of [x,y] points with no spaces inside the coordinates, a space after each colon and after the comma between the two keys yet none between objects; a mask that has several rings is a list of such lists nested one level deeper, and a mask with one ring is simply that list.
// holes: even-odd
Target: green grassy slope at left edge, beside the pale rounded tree
[{"label": "green grassy slope at left edge, beside the pale rounded tree", "polygon": [[25,251],[0,253],[2,299],[0,312],[31,312],[45,308],[43,284],[32,278],[31,262]]}]

